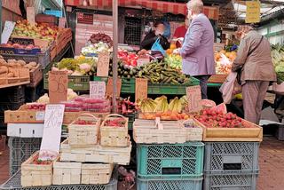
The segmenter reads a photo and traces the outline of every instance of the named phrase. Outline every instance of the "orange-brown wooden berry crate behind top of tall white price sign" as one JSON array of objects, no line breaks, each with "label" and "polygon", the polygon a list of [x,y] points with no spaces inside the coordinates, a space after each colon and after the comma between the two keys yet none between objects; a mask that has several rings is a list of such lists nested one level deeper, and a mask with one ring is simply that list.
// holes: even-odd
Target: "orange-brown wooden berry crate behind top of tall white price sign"
[{"label": "orange-brown wooden berry crate behind top of tall white price sign", "polygon": [[[33,111],[25,109],[23,105],[18,110],[4,111],[4,123],[43,123],[44,111]],[[108,113],[90,113],[90,112],[64,112],[63,123],[72,123],[79,115],[89,113],[101,119],[104,119]]]}]

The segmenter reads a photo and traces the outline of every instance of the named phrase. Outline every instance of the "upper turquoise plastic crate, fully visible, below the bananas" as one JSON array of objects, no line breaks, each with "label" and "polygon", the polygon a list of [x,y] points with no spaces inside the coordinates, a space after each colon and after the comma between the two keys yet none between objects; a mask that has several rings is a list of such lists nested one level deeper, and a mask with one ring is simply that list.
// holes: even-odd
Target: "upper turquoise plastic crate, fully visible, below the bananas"
[{"label": "upper turquoise plastic crate, fully visible, below the bananas", "polygon": [[138,178],[181,179],[201,178],[203,172],[204,144],[144,145],[137,147]]}]

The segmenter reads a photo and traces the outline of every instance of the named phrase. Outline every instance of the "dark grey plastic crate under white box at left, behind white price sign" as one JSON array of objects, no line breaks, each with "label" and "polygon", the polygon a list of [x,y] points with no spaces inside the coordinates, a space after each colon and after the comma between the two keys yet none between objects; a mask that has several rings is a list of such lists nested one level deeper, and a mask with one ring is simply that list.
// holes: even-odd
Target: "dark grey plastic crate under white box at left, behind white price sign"
[{"label": "dark grey plastic crate under white box at left, behind white price sign", "polygon": [[16,138],[8,139],[10,149],[10,176],[20,170],[20,165],[25,162],[30,155],[40,149],[41,138]]}]

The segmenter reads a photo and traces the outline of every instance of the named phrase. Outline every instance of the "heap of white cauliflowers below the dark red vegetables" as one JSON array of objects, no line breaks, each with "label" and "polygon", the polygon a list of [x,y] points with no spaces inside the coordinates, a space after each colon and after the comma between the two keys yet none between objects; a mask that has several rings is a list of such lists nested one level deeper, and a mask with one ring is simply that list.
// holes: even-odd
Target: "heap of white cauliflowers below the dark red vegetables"
[{"label": "heap of white cauliflowers below the dark red vegetables", "polygon": [[88,44],[87,46],[83,47],[81,50],[81,54],[83,56],[98,56],[99,52],[102,51],[109,51],[108,44],[103,42],[99,42],[97,44]]}]

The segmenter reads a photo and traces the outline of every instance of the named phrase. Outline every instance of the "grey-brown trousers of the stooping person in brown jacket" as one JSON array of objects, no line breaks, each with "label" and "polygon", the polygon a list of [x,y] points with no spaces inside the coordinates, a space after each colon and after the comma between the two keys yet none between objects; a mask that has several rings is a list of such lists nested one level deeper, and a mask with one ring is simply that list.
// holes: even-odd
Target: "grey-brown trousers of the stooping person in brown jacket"
[{"label": "grey-brown trousers of the stooping person in brown jacket", "polygon": [[246,81],[241,86],[245,120],[259,124],[268,81]]}]

